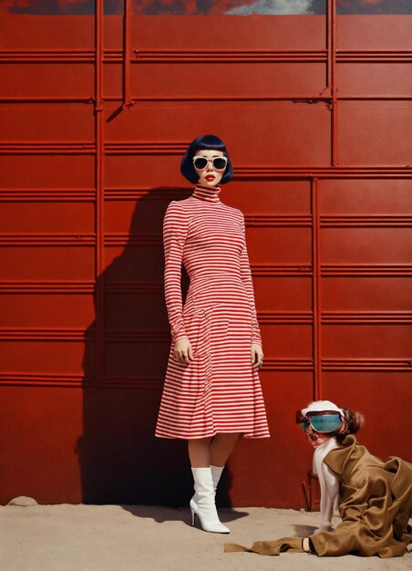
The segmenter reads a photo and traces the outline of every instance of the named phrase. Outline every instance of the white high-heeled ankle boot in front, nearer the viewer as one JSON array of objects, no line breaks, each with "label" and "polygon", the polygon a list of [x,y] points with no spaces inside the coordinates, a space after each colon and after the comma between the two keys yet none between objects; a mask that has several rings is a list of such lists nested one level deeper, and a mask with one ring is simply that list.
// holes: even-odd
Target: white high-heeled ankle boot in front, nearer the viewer
[{"label": "white high-heeled ankle boot in front, nearer the viewer", "polygon": [[201,528],[206,532],[229,534],[230,530],[221,524],[214,503],[214,487],[211,468],[192,468],[196,502],[191,499],[191,524],[194,525],[196,515],[201,521]]}]

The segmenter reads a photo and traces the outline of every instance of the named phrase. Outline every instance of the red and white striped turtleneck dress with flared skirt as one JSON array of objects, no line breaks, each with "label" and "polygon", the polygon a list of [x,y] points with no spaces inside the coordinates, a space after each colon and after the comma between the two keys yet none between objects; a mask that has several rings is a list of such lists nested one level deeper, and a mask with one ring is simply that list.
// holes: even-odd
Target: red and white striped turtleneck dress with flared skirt
[{"label": "red and white striped turtleneck dress with flared skirt", "polygon": [[[197,185],[170,202],[163,225],[165,294],[172,345],[156,436],[195,439],[217,432],[270,436],[251,344],[261,344],[243,214],[221,203],[219,187]],[[180,272],[191,284],[184,307]],[[174,358],[188,337],[190,364]]]}]

